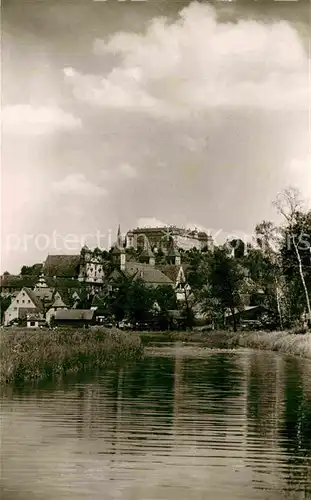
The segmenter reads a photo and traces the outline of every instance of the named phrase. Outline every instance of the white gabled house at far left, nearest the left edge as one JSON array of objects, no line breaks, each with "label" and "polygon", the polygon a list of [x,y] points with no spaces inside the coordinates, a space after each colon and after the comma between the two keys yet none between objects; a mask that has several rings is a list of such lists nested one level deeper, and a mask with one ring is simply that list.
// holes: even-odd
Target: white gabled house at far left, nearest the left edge
[{"label": "white gabled house at far left, nearest the left edge", "polygon": [[30,288],[24,287],[13,298],[11,304],[4,313],[4,325],[7,326],[14,321],[27,319],[27,314],[43,313],[44,307],[41,300]]}]

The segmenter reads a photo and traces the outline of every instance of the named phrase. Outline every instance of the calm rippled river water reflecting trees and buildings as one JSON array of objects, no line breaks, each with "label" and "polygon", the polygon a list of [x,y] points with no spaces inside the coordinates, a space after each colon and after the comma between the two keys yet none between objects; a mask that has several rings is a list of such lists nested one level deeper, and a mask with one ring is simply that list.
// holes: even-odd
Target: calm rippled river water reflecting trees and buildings
[{"label": "calm rippled river water reflecting trees and buildings", "polygon": [[311,363],[152,346],[1,401],[3,500],[311,499]]}]

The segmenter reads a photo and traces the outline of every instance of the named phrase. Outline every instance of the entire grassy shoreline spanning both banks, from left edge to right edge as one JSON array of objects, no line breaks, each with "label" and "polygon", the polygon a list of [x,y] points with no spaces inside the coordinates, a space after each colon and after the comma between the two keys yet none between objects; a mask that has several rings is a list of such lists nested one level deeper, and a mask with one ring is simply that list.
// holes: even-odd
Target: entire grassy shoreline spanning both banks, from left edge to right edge
[{"label": "entire grassy shoreline spanning both banks, from left edge to right edge", "polygon": [[139,359],[151,343],[193,342],[215,349],[251,348],[311,359],[311,333],[123,332],[117,329],[15,329],[0,333],[0,385],[28,384]]}]

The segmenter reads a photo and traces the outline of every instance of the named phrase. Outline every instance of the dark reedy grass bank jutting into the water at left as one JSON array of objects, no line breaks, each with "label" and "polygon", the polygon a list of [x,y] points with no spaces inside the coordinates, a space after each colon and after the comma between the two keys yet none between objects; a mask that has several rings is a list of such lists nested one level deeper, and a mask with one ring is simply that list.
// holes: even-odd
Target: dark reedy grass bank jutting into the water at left
[{"label": "dark reedy grass bank jutting into the water at left", "polygon": [[30,382],[102,368],[141,356],[137,335],[118,330],[4,329],[0,333],[0,383]]}]

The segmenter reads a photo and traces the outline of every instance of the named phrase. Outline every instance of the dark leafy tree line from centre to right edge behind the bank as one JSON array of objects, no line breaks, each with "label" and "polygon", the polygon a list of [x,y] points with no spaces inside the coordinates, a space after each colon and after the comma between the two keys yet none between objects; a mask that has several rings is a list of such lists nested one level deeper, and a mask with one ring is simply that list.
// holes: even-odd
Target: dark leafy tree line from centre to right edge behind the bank
[{"label": "dark leafy tree line from centre to right edge behind the bank", "polygon": [[[171,325],[179,310],[179,326],[191,328],[199,312],[213,327],[225,327],[231,316],[234,330],[246,304],[261,305],[273,328],[310,325],[311,211],[299,192],[283,191],[275,201],[279,225],[262,221],[253,241],[233,240],[206,251],[182,252],[187,264],[184,300],[176,301],[170,287],[150,288],[140,279],[120,275],[106,295],[105,307],[117,321]],[[267,324],[268,324],[267,323]]]}]

